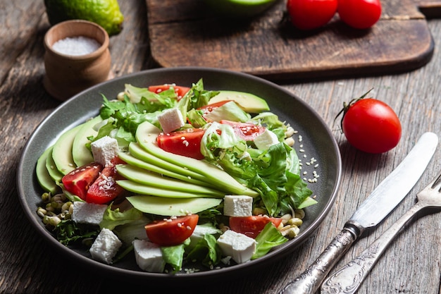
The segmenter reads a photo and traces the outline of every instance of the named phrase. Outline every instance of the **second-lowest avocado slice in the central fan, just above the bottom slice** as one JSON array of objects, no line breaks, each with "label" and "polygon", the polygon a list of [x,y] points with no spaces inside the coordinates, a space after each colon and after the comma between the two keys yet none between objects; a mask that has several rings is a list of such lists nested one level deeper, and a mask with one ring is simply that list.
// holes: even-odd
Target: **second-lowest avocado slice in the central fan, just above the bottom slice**
[{"label": "second-lowest avocado slice in the central fan, just above the bottom slice", "polygon": [[[125,190],[130,192],[135,192],[141,195],[151,195],[158,197],[168,197],[168,198],[196,198],[196,197],[214,197],[219,198],[220,196],[212,196],[208,194],[201,194],[196,192],[184,192],[179,189],[179,187],[169,187],[169,188],[156,188],[150,185],[144,185],[142,183],[134,182],[133,180],[117,180],[116,183],[123,187]],[[223,197],[223,196],[222,196]]]}]

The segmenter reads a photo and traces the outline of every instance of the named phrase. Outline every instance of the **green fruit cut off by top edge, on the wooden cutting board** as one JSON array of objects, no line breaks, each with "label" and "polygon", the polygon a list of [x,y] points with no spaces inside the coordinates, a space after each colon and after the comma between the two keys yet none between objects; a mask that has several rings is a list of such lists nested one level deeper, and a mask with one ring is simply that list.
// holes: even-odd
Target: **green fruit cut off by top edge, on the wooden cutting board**
[{"label": "green fruit cut off by top edge, on the wooden cutting board", "polygon": [[205,0],[213,11],[232,18],[256,16],[276,1],[278,0]]}]

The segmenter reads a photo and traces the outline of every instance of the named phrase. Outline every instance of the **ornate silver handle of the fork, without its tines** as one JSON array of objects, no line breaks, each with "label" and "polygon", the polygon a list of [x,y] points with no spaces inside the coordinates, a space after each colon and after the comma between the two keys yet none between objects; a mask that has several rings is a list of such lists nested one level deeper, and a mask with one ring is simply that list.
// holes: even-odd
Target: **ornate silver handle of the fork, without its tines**
[{"label": "ornate silver handle of the fork, without its tines", "polygon": [[326,278],[321,286],[321,294],[351,294],[358,290],[366,276],[383,254],[395,235],[408,223],[412,217],[421,210],[418,202],[406,214],[398,219],[390,228],[375,240],[364,252],[334,274]]}]

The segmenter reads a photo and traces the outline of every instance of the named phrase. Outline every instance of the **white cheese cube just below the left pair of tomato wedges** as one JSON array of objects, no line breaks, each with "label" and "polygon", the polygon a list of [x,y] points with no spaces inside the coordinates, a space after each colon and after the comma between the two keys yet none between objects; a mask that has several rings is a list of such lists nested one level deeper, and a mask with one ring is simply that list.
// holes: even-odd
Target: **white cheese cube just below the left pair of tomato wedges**
[{"label": "white cheese cube just below the left pair of tomato wedges", "polygon": [[75,223],[99,225],[106,209],[107,205],[105,204],[75,201],[73,202],[72,220]]}]

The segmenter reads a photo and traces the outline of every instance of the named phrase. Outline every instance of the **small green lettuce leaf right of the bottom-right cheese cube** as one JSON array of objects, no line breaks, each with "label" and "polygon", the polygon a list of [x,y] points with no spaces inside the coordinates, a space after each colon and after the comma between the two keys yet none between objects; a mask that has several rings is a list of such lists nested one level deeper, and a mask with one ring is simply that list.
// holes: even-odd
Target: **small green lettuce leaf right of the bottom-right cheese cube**
[{"label": "small green lettuce leaf right of the bottom-right cheese cube", "polygon": [[273,223],[269,222],[265,228],[256,237],[256,251],[251,259],[256,259],[266,255],[271,248],[282,245],[287,242],[287,238],[283,237]]}]

